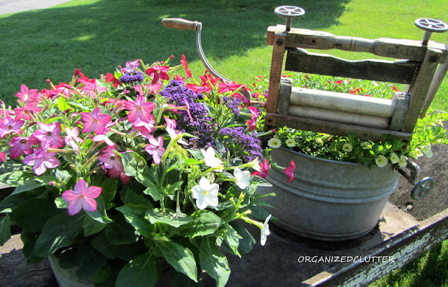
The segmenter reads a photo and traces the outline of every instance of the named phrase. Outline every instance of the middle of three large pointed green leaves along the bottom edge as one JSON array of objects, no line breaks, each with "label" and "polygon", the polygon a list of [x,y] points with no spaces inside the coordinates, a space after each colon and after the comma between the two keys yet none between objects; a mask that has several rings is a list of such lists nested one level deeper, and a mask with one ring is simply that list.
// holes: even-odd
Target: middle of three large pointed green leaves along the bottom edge
[{"label": "middle of three large pointed green leaves along the bottom edge", "polygon": [[190,249],[173,241],[157,241],[157,246],[169,265],[172,265],[177,272],[186,274],[197,282],[196,260]]}]

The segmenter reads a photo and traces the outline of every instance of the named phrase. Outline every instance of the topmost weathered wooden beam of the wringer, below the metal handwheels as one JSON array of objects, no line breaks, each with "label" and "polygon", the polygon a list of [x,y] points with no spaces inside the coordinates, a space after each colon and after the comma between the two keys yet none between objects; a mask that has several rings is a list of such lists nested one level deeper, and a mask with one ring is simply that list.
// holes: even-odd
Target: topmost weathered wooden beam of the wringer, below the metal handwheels
[{"label": "topmost weathered wooden beam of the wringer, below the metal handwheels", "polygon": [[[272,36],[269,33],[284,31],[284,25],[268,27],[267,43],[272,45]],[[447,46],[434,41],[429,41],[428,46],[421,45],[421,41],[377,38],[367,39],[351,36],[335,36],[325,31],[313,31],[309,29],[291,28],[286,36],[286,48],[305,48],[317,50],[346,50],[352,52],[370,52],[380,57],[392,57],[395,59],[409,59],[421,62],[426,48],[442,50],[442,57],[437,59],[443,63],[448,56]]]}]

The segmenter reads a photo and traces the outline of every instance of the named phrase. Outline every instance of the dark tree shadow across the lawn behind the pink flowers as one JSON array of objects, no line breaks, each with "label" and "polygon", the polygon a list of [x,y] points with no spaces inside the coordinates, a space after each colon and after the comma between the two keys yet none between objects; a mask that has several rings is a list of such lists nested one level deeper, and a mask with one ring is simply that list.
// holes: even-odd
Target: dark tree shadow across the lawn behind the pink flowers
[{"label": "dark tree shadow across the lawn behind the pink flowers", "polygon": [[[302,1],[307,13],[293,27],[337,24],[349,0]],[[323,2],[323,3],[320,3]],[[82,6],[32,10],[0,18],[0,99],[13,104],[20,85],[68,81],[73,68],[90,77],[133,59],[152,63],[175,55],[198,59],[195,32],[162,27],[162,18],[203,23],[207,57],[225,59],[265,46],[266,29],[283,24],[274,0],[108,0]],[[284,5],[284,4],[283,4]],[[177,61],[176,61],[177,62]]]}]

